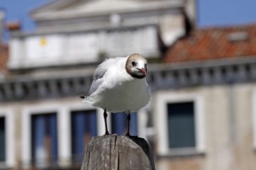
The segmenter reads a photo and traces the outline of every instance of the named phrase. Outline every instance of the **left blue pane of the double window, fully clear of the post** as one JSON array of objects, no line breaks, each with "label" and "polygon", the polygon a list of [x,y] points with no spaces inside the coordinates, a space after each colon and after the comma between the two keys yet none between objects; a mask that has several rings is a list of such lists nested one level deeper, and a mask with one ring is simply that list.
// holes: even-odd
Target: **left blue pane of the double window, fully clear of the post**
[{"label": "left blue pane of the double window, fully clear of the post", "polygon": [[46,167],[57,163],[56,114],[32,115],[32,163]]}]

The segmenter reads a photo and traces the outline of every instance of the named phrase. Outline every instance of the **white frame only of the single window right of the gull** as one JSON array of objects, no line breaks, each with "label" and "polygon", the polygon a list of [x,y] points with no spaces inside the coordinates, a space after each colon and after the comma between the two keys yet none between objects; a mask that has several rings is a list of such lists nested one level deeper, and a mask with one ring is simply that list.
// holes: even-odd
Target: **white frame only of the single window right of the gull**
[{"label": "white frame only of the single window right of the gull", "polygon": [[[168,147],[168,103],[193,101],[195,118],[195,148]],[[205,126],[203,115],[203,97],[197,93],[159,92],[156,95],[155,124],[157,151],[160,156],[198,155],[205,153]]]}]

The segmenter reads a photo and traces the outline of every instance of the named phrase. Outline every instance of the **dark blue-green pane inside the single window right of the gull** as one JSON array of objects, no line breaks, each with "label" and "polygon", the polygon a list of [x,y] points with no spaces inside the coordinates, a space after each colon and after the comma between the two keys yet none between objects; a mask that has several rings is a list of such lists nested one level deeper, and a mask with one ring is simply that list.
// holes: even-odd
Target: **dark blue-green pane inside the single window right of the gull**
[{"label": "dark blue-green pane inside the single window right of the gull", "polygon": [[193,102],[168,103],[169,148],[195,146],[195,114]]}]

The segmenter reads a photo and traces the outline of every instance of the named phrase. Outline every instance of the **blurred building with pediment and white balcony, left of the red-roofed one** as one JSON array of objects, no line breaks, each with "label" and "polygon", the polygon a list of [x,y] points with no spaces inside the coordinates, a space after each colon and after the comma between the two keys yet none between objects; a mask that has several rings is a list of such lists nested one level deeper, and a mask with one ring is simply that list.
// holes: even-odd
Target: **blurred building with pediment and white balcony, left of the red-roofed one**
[{"label": "blurred building with pediment and white balcony, left of the red-roofed one", "polygon": [[[53,1],[32,11],[34,32],[9,24],[9,55],[0,52],[0,169],[79,169],[86,142],[104,134],[103,111],[79,99],[98,63],[135,52],[160,62],[195,20],[193,2]],[[156,91],[165,68],[152,68]],[[152,139],[151,104],[132,114],[132,135]],[[125,134],[125,119],[110,114],[110,132]]]}]

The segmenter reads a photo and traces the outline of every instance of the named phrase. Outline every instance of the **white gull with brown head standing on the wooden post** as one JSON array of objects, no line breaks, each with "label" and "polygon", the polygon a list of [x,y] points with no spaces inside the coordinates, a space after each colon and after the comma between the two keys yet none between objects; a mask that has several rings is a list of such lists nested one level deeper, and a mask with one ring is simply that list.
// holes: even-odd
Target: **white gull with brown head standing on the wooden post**
[{"label": "white gull with brown head standing on the wooden post", "polygon": [[94,72],[88,96],[83,102],[104,110],[105,134],[108,133],[106,112],[127,113],[129,134],[131,113],[137,112],[150,101],[150,89],[146,81],[147,60],[140,54],[108,58]]}]

